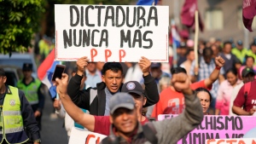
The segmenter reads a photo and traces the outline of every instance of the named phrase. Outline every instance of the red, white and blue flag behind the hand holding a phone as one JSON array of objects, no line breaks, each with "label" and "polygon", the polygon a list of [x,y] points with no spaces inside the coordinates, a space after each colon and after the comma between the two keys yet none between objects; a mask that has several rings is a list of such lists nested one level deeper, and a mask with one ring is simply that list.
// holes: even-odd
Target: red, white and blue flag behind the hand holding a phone
[{"label": "red, white and blue flag behind the hand holding a phone", "polygon": [[47,86],[52,98],[56,96],[56,87],[52,84],[51,77],[55,71],[55,66],[58,64],[60,64],[60,61],[55,61],[55,49],[52,49],[49,55],[38,67],[38,78]]}]

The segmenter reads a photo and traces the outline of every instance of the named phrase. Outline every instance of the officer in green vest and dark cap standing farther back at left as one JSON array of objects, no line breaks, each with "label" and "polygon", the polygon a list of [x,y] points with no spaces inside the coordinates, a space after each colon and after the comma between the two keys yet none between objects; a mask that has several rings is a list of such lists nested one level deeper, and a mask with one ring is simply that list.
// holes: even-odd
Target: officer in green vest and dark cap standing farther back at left
[{"label": "officer in green vest and dark cap standing farther back at left", "polygon": [[41,130],[41,118],[44,108],[44,95],[41,92],[42,83],[38,78],[32,77],[31,63],[24,63],[22,72],[24,78],[20,79],[17,87],[24,91],[27,101],[32,106],[34,116],[38,122],[38,127]]}]

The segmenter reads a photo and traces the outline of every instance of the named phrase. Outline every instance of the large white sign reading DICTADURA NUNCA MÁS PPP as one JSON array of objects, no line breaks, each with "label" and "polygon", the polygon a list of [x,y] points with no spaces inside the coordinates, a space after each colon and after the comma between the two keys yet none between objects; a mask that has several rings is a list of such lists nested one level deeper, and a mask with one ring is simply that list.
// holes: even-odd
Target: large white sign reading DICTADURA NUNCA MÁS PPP
[{"label": "large white sign reading DICTADURA NUNCA M\u00c1S PPP", "polygon": [[168,61],[168,6],[55,4],[55,58]]}]

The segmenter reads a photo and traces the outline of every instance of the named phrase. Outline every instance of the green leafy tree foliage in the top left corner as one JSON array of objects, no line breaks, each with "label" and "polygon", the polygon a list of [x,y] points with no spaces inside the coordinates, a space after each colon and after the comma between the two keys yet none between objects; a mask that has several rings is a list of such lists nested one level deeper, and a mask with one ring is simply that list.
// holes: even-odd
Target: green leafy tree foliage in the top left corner
[{"label": "green leafy tree foliage in the top left corner", "polygon": [[0,0],[0,53],[26,51],[43,12],[44,0]]}]

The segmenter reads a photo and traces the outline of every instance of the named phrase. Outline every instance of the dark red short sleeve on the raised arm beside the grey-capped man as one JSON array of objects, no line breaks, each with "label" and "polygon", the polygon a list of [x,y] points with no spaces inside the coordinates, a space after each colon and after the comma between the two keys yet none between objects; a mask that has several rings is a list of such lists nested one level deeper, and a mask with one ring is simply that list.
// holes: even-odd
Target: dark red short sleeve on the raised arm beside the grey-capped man
[{"label": "dark red short sleeve on the raised arm beside the grey-capped man", "polygon": [[102,135],[109,135],[110,130],[110,120],[109,116],[94,116],[95,118],[95,126],[94,131],[95,133],[99,133]]}]

